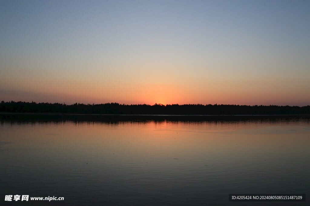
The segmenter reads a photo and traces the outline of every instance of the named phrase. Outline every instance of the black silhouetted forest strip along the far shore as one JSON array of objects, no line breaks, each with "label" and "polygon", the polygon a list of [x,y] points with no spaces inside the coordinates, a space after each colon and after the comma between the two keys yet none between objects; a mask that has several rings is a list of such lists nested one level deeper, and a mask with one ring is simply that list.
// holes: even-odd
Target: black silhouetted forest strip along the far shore
[{"label": "black silhouetted forest strip along the far shore", "polygon": [[80,104],[35,102],[0,103],[0,112],[40,112],[75,114],[157,114],[157,115],[301,115],[310,114],[310,106],[263,106],[263,105],[218,105],[218,104]]}]

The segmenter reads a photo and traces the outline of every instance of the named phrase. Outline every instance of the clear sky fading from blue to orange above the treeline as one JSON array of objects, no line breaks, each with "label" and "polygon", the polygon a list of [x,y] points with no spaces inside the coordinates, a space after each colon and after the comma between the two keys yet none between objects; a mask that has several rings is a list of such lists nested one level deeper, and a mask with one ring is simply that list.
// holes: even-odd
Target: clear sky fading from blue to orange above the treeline
[{"label": "clear sky fading from blue to orange above the treeline", "polygon": [[310,105],[310,1],[0,1],[0,101]]}]

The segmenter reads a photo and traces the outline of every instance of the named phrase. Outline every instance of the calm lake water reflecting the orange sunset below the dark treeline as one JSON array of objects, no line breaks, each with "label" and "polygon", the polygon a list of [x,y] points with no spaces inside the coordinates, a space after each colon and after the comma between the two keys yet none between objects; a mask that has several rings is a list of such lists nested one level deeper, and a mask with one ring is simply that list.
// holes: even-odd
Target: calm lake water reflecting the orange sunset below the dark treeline
[{"label": "calm lake water reflecting the orange sunset below the dark treeline", "polygon": [[[0,204],[310,203],[309,117],[8,116],[0,118]],[[303,193],[307,201],[228,202],[231,193]],[[64,201],[4,201],[16,194]]]}]

